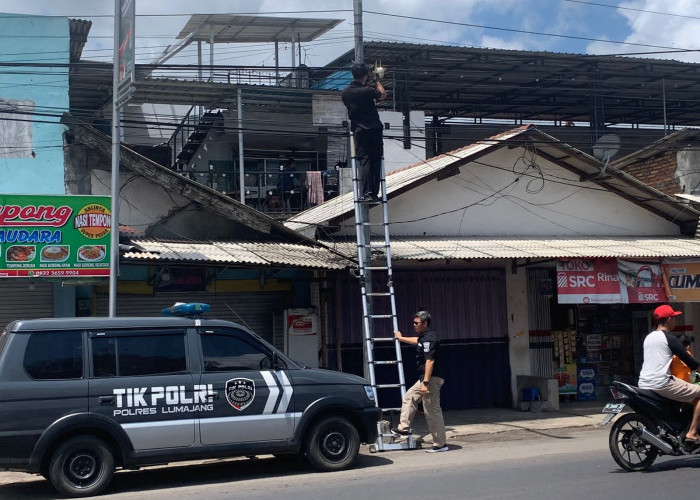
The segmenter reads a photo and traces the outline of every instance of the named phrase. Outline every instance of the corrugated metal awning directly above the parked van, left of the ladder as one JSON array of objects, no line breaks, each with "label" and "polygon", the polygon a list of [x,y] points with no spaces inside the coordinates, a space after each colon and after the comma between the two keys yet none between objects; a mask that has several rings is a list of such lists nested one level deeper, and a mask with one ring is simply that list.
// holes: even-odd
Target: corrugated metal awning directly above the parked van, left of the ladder
[{"label": "corrugated metal awning directly above the parked van, left of the ladder", "polygon": [[211,262],[256,266],[302,267],[307,269],[344,269],[352,262],[323,247],[292,243],[258,242],[173,242],[132,239],[144,249],[122,255],[125,259]]}]

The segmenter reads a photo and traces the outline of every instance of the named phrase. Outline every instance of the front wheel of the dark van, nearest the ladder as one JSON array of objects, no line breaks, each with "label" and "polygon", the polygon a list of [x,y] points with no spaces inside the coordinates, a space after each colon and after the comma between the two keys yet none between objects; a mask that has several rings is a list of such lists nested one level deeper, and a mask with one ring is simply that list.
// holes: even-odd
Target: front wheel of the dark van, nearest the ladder
[{"label": "front wheel of the dark van, nearest the ladder", "polygon": [[360,451],[360,435],[344,417],[318,421],[306,440],[306,458],[315,469],[341,470],[350,467]]}]

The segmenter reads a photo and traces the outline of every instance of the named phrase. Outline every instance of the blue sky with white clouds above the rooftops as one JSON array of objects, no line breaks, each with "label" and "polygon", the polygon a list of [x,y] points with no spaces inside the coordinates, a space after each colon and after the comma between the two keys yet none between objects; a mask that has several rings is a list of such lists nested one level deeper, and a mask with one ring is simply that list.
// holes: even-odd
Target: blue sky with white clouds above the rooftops
[{"label": "blue sky with white clouds above the rooftops", "polygon": [[[354,46],[353,0],[135,1],[137,61],[142,63],[175,43],[194,13],[343,19],[322,39],[302,44],[301,62],[311,67]],[[430,0],[364,0],[364,39],[700,62],[698,0],[441,0],[435,6]],[[109,0],[0,0],[0,12],[91,20],[83,59],[112,60],[114,4]],[[280,51],[280,65],[289,65],[288,44]],[[193,63],[195,53],[192,46],[170,62]],[[215,53],[216,64],[274,64],[271,45],[217,46]]]}]

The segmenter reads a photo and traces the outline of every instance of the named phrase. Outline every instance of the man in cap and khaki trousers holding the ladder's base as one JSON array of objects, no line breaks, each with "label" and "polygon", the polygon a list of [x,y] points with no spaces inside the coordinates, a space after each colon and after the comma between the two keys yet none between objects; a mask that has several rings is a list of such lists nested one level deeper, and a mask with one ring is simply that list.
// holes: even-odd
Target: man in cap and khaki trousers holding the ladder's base
[{"label": "man in cap and khaki trousers holding the ladder's base", "polygon": [[401,332],[394,332],[394,337],[400,342],[417,346],[418,382],[406,391],[401,405],[399,425],[392,430],[396,434],[408,434],[418,403],[423,401],[423,413],[433,436],[433,447],[425,451],[447,451],[449,448],[445,435],[445,421],[440,408],[440,388],[445,383],[440,372],[440,337],[430,328],[428,311],[418,311],[414,314],[413,330],[416,332],[415,337],[404,337]]}]

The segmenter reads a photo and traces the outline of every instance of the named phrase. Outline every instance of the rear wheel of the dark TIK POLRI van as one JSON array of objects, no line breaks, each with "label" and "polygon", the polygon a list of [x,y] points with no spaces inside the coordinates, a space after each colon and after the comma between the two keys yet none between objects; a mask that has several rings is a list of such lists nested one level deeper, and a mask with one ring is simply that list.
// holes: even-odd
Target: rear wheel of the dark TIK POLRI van
[{"label": "rear wheel of the dark TIK POLRI van", "polygon": [[61,444],[51,457],[49,476],[59,493],[71,497],[97,495],[114,475],[114,456],[101,439],[77,436]]}]

